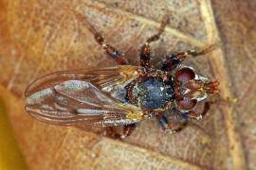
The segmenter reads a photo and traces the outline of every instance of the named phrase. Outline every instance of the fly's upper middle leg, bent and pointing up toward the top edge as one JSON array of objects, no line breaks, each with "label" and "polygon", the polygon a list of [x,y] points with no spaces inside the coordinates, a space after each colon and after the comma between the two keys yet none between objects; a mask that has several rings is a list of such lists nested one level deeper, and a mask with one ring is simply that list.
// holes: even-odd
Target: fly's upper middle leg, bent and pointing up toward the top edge
[{"label": "fly's upper middle leg, bent and pointing up toward the top edge", "polygon": [[163,33],[165,26],[167,25],[167,15],[162,19],[161,26],[159,27],[158,33],[149,38],[140,49],[140,65],[142,67],[150,67],[151,60],[151,48],[150,43],[159,40],[160,35]]}]

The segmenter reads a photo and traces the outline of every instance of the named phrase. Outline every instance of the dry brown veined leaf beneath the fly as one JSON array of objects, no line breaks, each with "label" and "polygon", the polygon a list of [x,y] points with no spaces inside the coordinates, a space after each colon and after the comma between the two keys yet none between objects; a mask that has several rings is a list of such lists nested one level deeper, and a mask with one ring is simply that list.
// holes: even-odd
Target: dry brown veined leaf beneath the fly
[{"label": "dry brown veined leaf beneath the fly", "polygon": [[[142,3],[143,2],[143,3]],[[170,24],[154,42],[154,60],[170,52],[218,49],[187,59],[201,75],[221,82],[222,98],[205,120],[170,135],[143,121],[123,142],[102,138],[88,154],[92,132],[30,118],[23,93],[38,76],[57,70],[115,65],[74,17],[79,11],[137,65],[138,49],[166,11]],[[163,11],[164,10],[164,11]],[[0,97],[30,169],[255,169],[256,1],[74,0],[0,1]],[[210,98],[209,98],[210,100]]]}]

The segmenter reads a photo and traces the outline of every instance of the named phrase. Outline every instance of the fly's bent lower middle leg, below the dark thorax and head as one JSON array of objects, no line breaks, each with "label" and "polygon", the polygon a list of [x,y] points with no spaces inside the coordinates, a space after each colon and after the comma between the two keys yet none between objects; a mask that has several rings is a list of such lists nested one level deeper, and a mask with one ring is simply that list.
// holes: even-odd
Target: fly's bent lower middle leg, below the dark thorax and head
[{"label": "fly's bent lower middle leg, below the dark thorax and head", "polygon": [[181,122],[181,124],[178,127],[172,128],[165,115],[160,113],[156,116],[156,118],[158,120],[160,127],[162,127],[162,129],[165,132],[169,132],[171,134],[180,132],[181,130],[183,130],[185,127],[188,127],[189,125],[189,121],[188,119],[186,119],[185,121]]}]

